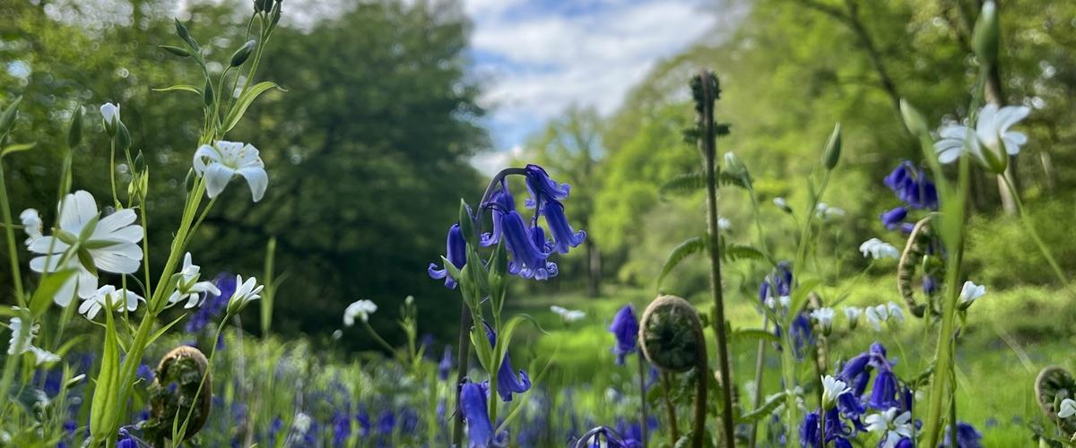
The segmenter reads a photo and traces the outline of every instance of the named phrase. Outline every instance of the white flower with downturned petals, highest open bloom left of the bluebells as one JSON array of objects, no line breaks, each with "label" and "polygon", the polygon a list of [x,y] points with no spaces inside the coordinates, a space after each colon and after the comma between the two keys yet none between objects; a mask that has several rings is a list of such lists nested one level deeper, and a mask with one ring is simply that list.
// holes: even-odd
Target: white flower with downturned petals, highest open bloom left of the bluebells
[{"label": "white flower with downturned petals, highest open bloom left of the bluebells", "polygon": [[237,174],[243,176],[251,187],[254,202],[261,200],[269,186],[269,175],[265,163],[258,157],[258,149],[240,142],[216,142],[216,145],[201,145],[195,151],[195,172],[206,177],[206,193],[216,198]]}]

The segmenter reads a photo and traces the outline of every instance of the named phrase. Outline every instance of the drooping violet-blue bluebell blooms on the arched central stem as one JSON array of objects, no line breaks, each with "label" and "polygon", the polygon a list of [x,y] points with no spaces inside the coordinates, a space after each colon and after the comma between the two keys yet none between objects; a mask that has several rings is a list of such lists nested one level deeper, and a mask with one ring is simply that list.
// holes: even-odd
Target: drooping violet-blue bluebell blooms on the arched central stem
[{"label": "drooping violet-blue bluebell blooms on the arched central stem", "polygon": [[[529,220],[524,220],[515,209],[515,200],[506,179],[509,174],[524,176],[530,193],[525,205],[534,209]],[[492,194],[479,204],[478,213],[481,216],[485,211],[491,212],[493,231],[480,235],[480,245],[489,247],[504,242],[510,255],[508,272],[513,275],[537,280],[556,276],[557,266],[550,257],[554,252],[567,254],[586,239],[585,232],[572,229],[564,214],[561,201],[568,198],[568,184],[558,184],[541,167],[528,164],[523,169],[506,170],[494,179],[491,189]],[[551,237],[547,237],[546,229],[538,226],[539,217],[544,217]],[[467,263],[467,237],[470,236],[463,234],[459,223],[449,228],[445,259],[456,269],[462,270]],[[444,278],[444,286],[455,288],[456,281],[447,268],[438,269],[437,263],[430,263],[427,272],[433,278]]]}]

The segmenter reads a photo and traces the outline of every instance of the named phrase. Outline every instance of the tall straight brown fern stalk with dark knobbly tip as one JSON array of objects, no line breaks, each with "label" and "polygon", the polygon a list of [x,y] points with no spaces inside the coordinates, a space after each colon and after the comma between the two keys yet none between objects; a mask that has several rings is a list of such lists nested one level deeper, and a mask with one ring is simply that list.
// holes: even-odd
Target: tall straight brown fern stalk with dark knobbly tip
[{"label": "tall straight brown fern stalk with dark knobbly tip", "polygon": [[[725,304],[721,290],[721,246],[718,228],[718,179],[714,159],[717,158],[717,134],[713,129],[713,101],[717,92],[712,91],[710,77],[712,74],[704,71],[700,74],[703,86],[702,127],[704,136],[699,142],[703,151],[706,172],[706,204],[707,204],[707,237],[710,248],[710,294],[713,297],[713,332],[718,339],[718,363],[721,368],[721,419],[722,439],[726,447],[736,443],[733,427],[733,390],[732,368],[728,365],[728,342],[725,334]],[[704,366],[709,371],[709,366]],[[700,371],[699,374],[703,372]],[[705,393],[705,391],[704,391]]]}]

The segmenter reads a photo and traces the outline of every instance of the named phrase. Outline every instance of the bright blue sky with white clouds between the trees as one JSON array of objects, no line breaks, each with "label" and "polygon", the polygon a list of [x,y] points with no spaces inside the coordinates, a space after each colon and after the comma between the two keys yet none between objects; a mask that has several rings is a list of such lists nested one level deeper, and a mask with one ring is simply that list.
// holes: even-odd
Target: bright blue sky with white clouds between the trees
[{"label": "bright blue sky with white clouds between the trees", "polygon": [[615,112],[662,58],[716,25],[698,0],[465,0],[471,58],[485,86],[493,151],[471,161],[494,172],[528,135],[568,106]]}]

